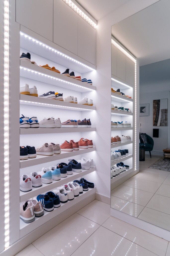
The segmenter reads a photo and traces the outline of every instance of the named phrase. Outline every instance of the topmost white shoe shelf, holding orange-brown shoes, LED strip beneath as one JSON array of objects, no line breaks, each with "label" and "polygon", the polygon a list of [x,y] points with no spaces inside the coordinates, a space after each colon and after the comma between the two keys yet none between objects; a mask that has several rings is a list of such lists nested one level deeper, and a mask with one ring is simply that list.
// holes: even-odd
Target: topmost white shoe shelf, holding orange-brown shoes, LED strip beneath
[{"label": "topmost white shoe shelf, holding orange-brown shoes, LED strip beneath", "polygon": [[[96,87],[93,85],[88,85],[85,82],[64,76],[24,60],[20,60],[20,76],[78,92],[89,92],[96,90]],[[48,88],[50,91],[50,86]]]}]

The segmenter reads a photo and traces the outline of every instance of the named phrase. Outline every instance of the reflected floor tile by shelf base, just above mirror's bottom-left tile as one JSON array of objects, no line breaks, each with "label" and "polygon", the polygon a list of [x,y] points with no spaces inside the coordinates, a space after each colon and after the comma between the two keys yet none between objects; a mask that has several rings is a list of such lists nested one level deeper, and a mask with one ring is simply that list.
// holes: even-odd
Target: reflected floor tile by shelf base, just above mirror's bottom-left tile
[{"label": "reflected floor tile by shelf base, just above mirror's bottom-left tile", "polygon": [[111,191],[111,195],[138,205],[146,206],[154,194],[136,188],[120,185]]}]

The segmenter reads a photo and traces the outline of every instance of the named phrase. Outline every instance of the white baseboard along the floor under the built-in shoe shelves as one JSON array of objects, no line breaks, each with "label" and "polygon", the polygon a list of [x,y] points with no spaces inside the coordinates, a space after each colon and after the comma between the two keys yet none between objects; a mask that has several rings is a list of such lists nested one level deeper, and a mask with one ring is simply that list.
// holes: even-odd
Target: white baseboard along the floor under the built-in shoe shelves
[{"label": "white baseboard along the floor under the built-in shoe shelves", "polygon": [[85,198],[78,204],[72,206],[69,208],[69,211],[64,211],[58,216],[54,217],[53,219],[47,221],[44,225],[40,226],[39,228],[35,229],[28,235],[24,236],[14,244],[12,244],[8,249],[2,251],[0,253],[0,256],[14,256],[16,253],[24,249],[26,246],[28,246],[30,243],[38,239],[40,236],[57,226],[59,223],[61,223],[63,220],[67,219],[71,215],[73,215],[75,212],[79,211],[81,208],[92,202],[96,199],[96,193],[92,194],[91,196]]}]

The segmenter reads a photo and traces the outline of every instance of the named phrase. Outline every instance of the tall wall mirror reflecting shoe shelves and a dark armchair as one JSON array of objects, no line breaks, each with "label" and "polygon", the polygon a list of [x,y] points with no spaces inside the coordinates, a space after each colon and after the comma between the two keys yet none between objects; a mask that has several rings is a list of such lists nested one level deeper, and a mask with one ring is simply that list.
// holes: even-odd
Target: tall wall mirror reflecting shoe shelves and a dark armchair
[{"label": "tall wall mirror reflecting shoe shelves and a dark armchair", "polygon": [[[111,208],[168,231],[169,8],[170,2],[161,0],[115,24],[111,42]],[[135,101],[136,61],[139,102]],[[135,128],[136,104],[140,104],[136,113],[140,136]],[[140,140],[139,148],[135,136]]]}]

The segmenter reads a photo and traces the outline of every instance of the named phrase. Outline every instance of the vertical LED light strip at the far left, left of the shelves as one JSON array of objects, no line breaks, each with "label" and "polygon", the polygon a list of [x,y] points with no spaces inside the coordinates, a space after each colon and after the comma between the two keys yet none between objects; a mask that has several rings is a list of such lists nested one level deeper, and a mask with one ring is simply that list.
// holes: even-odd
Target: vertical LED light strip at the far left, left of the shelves
[{"label": "vertical LED light strip at the far left, left of the shelves", "polygon": [[4,241],[9,247],[9,0],[4,1]]}]

